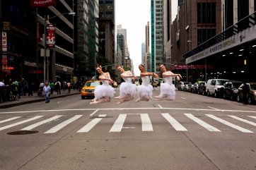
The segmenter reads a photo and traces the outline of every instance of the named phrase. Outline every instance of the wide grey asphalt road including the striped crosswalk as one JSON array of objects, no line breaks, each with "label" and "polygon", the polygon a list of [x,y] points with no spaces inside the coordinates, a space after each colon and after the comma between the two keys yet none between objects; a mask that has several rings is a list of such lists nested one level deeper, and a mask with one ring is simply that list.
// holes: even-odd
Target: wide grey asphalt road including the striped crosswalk
[{"label": "wide grey asphalt road including the striped crosswalk", "polygon": [[180,91],[173,102],[89,102],[1,109],[0,169],[256,169],[256,105]]}]

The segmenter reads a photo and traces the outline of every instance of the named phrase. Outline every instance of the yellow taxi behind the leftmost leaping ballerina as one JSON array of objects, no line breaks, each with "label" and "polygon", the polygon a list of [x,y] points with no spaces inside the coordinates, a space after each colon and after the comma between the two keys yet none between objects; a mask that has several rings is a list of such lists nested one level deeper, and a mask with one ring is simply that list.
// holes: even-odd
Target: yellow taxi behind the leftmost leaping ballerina
[{"label": "yellow taxi behind the leftmost leaping ballerina", "polygon": [[94,90],[98,85],[100,85],[100,80],[88,80],[81,90],[81,98],[94,97]]}]

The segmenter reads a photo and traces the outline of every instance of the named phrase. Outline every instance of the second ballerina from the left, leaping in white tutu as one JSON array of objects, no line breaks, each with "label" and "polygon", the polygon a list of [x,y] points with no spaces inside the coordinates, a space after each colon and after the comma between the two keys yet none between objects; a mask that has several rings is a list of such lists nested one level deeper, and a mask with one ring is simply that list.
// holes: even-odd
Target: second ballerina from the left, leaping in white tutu
[{"label": "second ballerina from the left, leaping in white tutu", "polygon": [[136,76],[133,75],[131,71],[124,71],[122,66],[118,66],[117,70],[120,71],[120,76],[124,79],[124,82],[120,85],[120,96],[115,97],[115,99],[120,99],[120,102],[117,104],[121,104],[124,101],[134,99],[134,95],[136,94],[136,85],[132,84],[131,78],[136,80]]}]

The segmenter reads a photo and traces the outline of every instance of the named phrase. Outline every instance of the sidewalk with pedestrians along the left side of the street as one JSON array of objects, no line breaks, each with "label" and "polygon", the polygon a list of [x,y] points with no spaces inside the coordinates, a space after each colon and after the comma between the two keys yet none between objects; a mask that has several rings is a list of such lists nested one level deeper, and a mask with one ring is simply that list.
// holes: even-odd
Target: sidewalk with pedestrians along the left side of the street
[{"label": "sidewalk with pedestrians along the left side of the street", "polygon": [[[62,90],[61,92],[62,94],[58,95],[57,92],[54,91],[53,94],[50,95],[50,99],[66,97],[69,95],[77,95],[81,93],[78,90],[73,90],[73,89],[70,91],[70,94],[68,94],[68,90],[65,90],[65,91]],[[43,95],[40,97],[40,96],[37,96],[37,92],[33,92],[33,96],[28,96],[27,94],[25,96],[21,96],[21,99],[18,99],[16,101],[0,103],[0,109],[15,107],[22,104],[29,104],[32,102],[42,102],[42,101],[45,101],[45,96]]]}]

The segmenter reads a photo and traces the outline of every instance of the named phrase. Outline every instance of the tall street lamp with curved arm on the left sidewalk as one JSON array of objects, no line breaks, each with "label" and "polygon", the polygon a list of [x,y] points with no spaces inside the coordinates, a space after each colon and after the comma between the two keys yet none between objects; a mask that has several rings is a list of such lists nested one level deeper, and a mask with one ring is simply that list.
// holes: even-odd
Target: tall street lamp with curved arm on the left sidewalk
[{"label": "tall street lamp with curved arm on the left sidewalk", "polygon": [[[75,16],[76,13],[60,13],[59,15],[57,16],[64,16],[64,15],[71,15],[71,16]],[[45,25],[44,25],[44,28],[45,28],[45,36],[43,37],[43,40],[44,40],[44,82],[46,80],[46,66],[45,66],[45,63],[46,63],[46,49],[47,49],[47,46],[46,46],[46,25],[47,25],[47,22],[52,19],[52,18],[55,18],[57,16],[53,16],[51,18],[48,18],[49,16],[45,16]],[[73,23],[74,25],[74,20],[73,20]],[[73,28],[74,29],[74,28]],[[74,30],[73,30],[74,32]],[[73,39],[74,39],[74,35],[73,35]],[[73,42],[74,43],[74,42]],[[48,62],[48,56],[47,56],[47,80],[49,81],[49,62]]]}]

